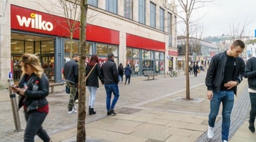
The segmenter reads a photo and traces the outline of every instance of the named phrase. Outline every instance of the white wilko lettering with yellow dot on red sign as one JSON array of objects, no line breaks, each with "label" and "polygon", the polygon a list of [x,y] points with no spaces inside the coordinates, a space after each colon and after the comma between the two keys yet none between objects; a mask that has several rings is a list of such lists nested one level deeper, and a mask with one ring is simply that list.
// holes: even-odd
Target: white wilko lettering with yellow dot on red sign
[{"label": "white wilko lettering with yellow dot on red sign", "polygon": [[53,30],[53,23],[49,21],[42,21],[42,15],[32,13],[31,17],[29,18],[24,16],[21,17],[20,15],[16,15],[16,17],[18,19],[19,26],[25,25],[25,27],[29,27],[29,25],[31,25],[31,28],[36,28],[39,30]]}]

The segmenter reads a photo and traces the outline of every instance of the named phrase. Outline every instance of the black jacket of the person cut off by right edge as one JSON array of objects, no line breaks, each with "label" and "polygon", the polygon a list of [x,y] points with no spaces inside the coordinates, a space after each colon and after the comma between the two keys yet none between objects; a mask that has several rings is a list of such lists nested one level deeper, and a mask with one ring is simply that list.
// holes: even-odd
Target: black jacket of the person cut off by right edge
[{"label": "black jacket of the person cut off by right edge", "polygon": [[251,57],[246,63],[244,77],[248,78],[249,88],[256,90],[256,57]]}]

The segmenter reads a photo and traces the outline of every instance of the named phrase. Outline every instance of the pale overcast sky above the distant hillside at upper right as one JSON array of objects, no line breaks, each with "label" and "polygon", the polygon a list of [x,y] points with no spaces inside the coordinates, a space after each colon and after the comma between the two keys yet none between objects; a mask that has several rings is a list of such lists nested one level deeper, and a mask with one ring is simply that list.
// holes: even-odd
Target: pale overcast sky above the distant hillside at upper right
[{"label": "pale overcast sky above the distant hillside at upper right", "polygon": [[235,27],[238,24],[242,26],[245,21],[248,23],[246,35],[255,36],[256,0],[215,0],[194,11],[192,15],[193,19],[202,17],[199,25],[203,25],[203,37],[229,34],[230,25],[235,23]]}]

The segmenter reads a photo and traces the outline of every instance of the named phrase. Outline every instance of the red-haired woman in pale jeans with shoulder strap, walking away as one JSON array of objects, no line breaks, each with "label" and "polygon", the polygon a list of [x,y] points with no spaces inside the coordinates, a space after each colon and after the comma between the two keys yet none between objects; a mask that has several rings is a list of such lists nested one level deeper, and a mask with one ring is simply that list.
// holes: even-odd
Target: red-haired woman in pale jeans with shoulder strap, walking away
[{"label": "red-haired woman in pale jeans with shoulder strap, walking away", "polygon": [[101,67],[99,66],[99,59],[96,55],[92,55],[90,62],[86,66],[86,86],[90,92],[89,96],[89,115],[94,115],[94,102],[96,100],[97,88],[99,88],[99,79],[103,84],[103,77],[101,75]]}]

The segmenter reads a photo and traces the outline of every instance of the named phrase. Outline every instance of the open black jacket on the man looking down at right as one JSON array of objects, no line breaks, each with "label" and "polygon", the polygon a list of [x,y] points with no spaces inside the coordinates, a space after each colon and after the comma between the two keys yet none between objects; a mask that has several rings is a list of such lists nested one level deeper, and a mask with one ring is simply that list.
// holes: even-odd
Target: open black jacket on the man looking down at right
[{"label": "open black jacket on the man looking down at right", "polygon": [[[224,79],[225,63],[227,61],[227,51],[220,52],[212,57],[209,69],[207,71],[207,76],[205,78],[205,85],[207,90],[217,90],[222,88],[222,81]],[[241,57],[235,58],[235,73],[233,76],[233,81],[242,81],[244,76],[244,60]],[[237,86],[234,88],[235,94],[237,94]]]}]

